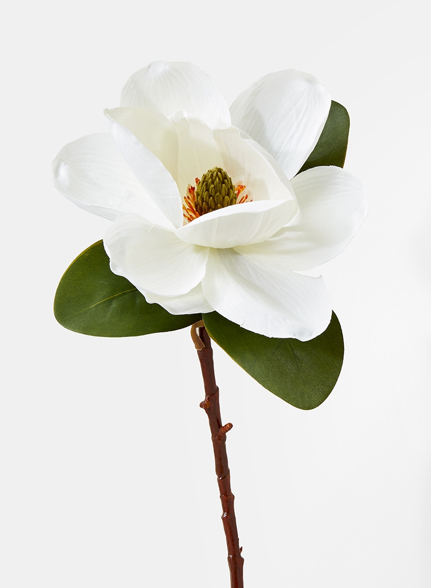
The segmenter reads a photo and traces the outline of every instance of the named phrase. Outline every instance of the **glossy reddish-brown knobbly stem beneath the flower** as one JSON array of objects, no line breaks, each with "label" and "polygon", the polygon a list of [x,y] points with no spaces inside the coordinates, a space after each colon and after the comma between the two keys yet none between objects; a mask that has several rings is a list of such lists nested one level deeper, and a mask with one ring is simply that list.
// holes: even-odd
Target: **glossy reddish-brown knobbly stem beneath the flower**
[{"label": "glossy reddish-brown knobbly stem beneath the flower", "polygon": [[[199,335],[196,332],[197,330],[199,330]],[[225,527],[226,543],[228,544],[230,588],[243,588],[242,568],[244,560],[241,556],[242,547],[239,547],[235,510],[233,509],[233,500],[235,497],[232,494],[232,490],[230,490],[228,454],[226,453],[226,433],[232,429],[232,423],[227,423],[222,426],[219,389],[215,382],[211,339],[202,321],[192,326],[192,339],[198,350],[203,385],[205,386],[205,400],[201,402],[201,408],[208,415],[209,428],[211,429],[216,475],[223,508],[222,522],[223,527]]]}]

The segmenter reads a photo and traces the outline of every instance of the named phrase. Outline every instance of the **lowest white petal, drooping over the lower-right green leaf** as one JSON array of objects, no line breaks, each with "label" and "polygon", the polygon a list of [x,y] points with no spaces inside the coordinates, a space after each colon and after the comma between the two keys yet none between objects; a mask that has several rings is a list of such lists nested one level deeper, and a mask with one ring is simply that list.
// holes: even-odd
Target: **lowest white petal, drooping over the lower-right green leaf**
[{"label": "lowest white petal, drooping over the lower-right green leaf", "polygon": [[205,298],[227,319],[267,337],[308,341],[329,325],[331,306],[322,278],[290,272],[282,263],[235,250],[211,249]]}]

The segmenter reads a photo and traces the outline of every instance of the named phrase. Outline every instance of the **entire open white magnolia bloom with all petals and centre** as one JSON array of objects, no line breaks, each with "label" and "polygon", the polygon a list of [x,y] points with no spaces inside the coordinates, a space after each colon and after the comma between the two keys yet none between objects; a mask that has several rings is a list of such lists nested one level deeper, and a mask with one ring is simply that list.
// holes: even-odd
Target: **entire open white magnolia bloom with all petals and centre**
[{"label": "entire open white magnolia bloom with all petals and centre", "polygon": [[296,273],[338,255],[366,215],[365,188],[335,166],[298,173],[330,108],[293,69],[233,102],[192,64],[153,62],[131,76],[110,133],[66,145],[56,188],[114,220],[114,273],[173,314],[216,310],[270,337],[312,339],[331,305],[322,277]]}]

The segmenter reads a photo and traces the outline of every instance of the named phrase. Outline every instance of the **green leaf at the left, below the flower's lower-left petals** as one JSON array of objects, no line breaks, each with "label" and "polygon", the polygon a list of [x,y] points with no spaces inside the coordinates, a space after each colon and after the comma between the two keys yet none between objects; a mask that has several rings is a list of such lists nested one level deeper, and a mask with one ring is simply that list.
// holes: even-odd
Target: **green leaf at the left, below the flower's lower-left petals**
[{"label": "green leaf at the left, below the flower's lower-left petals", "polygon": [[54,315],[66,329],[98,337],[148,335],[201,320],[201,315],[171,315],[146,302],[129,280],[111,272],[102,241],[66,269],[55,294]]}]

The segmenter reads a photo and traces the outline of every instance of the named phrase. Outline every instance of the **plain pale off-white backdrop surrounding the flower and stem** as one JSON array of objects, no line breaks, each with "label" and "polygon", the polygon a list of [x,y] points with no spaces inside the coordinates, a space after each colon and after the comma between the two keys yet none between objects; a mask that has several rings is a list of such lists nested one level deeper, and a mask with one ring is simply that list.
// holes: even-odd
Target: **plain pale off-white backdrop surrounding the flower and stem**
[{"label": "plain pale off-white backdrop surrounding the flower and stem", "polygon": [[[246,588],[431,585],[429,26],[425,2],[82,0],[2,13],[1,585],[228,588],[202,382],[188,330],[69,332],[62,273],[109,222],[51,187],[51,159],[105,131],[129,75],[192,61],[228,103],[296,68],[346,106],[345,168],[369,216],[323,266],[345,336],[302,412],[219,349]],[[283,6],[283,9],[282,9]]]}]

